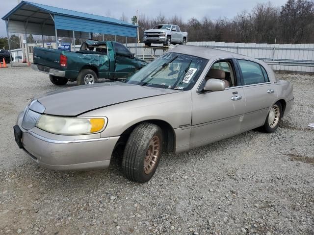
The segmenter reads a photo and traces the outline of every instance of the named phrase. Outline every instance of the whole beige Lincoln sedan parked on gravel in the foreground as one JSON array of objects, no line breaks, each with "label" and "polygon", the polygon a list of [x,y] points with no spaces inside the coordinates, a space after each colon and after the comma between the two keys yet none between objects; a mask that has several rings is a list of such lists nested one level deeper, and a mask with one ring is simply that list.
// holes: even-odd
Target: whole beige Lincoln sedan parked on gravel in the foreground
[{"label": "whole beige Lincoln sedan parked on gravel in the foreground", "polygon": [[44,167],[105,168],[116,151],[126,177],[146,182],[162,152],[187,151],[254,128],[274,132],[293,103],[291,84],[262,61],[178,46],[123,82],[35,97],[14,134]]}]

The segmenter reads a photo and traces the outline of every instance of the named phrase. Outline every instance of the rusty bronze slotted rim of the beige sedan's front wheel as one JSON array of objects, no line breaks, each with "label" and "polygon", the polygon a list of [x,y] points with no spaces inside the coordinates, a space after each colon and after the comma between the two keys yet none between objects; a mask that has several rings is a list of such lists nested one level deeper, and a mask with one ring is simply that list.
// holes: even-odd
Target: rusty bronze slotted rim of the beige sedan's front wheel
[{"label": "rusty bronze slotted rim of the beige sedan's front wheel", "polygon": [[147,175],[151,173],[152,170],[155,168],[157,159],[159,157],[159,147],[160,147],[159,138],[157,136],[154,136],[149,141],[144,159],[144,172]]}]

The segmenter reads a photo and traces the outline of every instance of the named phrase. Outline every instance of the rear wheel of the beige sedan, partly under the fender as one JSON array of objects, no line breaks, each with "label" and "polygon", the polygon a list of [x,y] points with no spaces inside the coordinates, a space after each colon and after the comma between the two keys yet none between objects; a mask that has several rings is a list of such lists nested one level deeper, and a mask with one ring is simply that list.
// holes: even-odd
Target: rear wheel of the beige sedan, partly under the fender
[{"label": "rear wheel of the beige sedan, partly under the fender", "polygon": [[266,117],[264,125],[261,127],[261,131],[265,133],[273,133],[277,130],[281,118],[283,116],[281,103],[275,103]]}]

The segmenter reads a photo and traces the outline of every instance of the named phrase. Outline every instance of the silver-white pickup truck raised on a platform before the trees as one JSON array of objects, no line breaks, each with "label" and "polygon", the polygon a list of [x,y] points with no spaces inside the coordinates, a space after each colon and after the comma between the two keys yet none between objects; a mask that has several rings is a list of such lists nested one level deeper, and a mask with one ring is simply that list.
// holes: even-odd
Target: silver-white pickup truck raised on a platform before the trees
[{"label": "silver-white pickup truck raised on a platform before the trees", "polygon": [[149,47],[152,43],[162,43],[164,46],[185,44],[187,42],[187,32],[181,32],[178,25],[157,24],[153,29],[144,31],[143,41],[145,46]]}]

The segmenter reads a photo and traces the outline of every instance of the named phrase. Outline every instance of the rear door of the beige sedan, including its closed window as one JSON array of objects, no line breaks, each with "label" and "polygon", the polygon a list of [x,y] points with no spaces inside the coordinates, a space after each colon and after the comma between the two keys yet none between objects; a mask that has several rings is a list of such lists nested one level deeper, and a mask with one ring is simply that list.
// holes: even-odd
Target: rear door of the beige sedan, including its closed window
[{"label": "rear door of the beige sedan, including its closed window", "polygon": [[237,59],[245,95],[245,113],[241,131],[263,125],[269,108],[277,97],[275,85],[269,81],[266,70],[258,63]]}]

